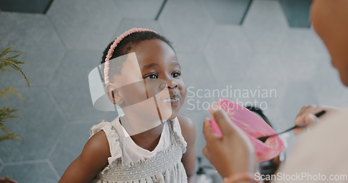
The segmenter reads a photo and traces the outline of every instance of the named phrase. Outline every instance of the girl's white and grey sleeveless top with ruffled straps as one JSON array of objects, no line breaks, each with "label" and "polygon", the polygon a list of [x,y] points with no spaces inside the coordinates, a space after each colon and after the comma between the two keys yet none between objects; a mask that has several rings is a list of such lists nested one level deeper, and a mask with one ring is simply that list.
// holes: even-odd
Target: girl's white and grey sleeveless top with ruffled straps
[{"label": "girl's white and grey sleeveless top with ruffled straps", "polygon": [[[187,142],[184,140],[184,137],[182,137],[180,123],[177,118],[173,119],[171,122],[165,122],[159,143],[152,151],[145,150],[136,145],[132,138],[129,137],[129,134],[127,133],[125,128],[123,128],[120,124],[120,118],[122,121],[122,116],[118,116],[111,122],[103,121],[102,123],[94,125],[92,128],[90,128],[90,137],[92,137],[93,134],[99,132],[100,130],[103,130],[105,132],[106,137],[109,141],[111,154],[111,157],[108,158],[109,165],[104,168],[104,170],[97,176],[97,178],[93,182],[156,182],[157,180],[161,179],[166,180],[166,174],[167,179],[168,175],[171,175],[171,179],[168,180],[174,180],[174,182],[178,180],[180,180],[180,182],[187,181],[184,167],[180,161],[182,154],[186,152]],[[171,132],[173,133],[171,134]],[[173,143],[173,141],[175,141],[175,143]],[[167,161],[167,159],[170,159],[168,160],[169,162]],[[134,170],[136,170],[137,168],[141,168],[141,166],[148,166],[149,168],[151,168],[152,165],[152,169],[145,170],[145,174],[139,173],[138,171],[129,171],[129,167],[132,167],[134,168]],[[156,170],[155,167],[160,168],[160,165],[161,170]],[[175,168],[168,166],[173,166]],[[143,168],[141,168],[141,170],[143,172]],[[159,174],[159,172],[161,171],[162,174]],[[118,173],[122,172],[131,174],[128,176],[130,177],[129,180],[110,180],[113,177],[117,177],[113,175],[117,175]],[[153,173],[155,173],[156,176]],[[174,175],[176,177],[173,177]],[[106,180],[105,178],[103,179],[103,176],[108,177],[109,180]],[[135,180],[134,177],[136,177]]]}]

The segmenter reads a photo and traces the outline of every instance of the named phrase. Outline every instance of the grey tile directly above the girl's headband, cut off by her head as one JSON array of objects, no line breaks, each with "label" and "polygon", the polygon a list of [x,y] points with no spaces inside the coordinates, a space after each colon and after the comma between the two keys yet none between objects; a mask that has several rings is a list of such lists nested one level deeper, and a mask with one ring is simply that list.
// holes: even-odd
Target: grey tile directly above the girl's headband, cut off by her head
[{"label": "grey tile directly above the girl's headband, cut off by her head", "polygon": [[157,21],[153,20],[139,20],[139,19],[122,19],[120,26],[118,26],[116,35],[113,39],[116,39],[119,35],[122,33],[125,33],[125,31],[131,29],[131,28],[149,28],[151,30],[155,30],[157,33],[163,35],[163,30],[161,30],[159,24]]}]

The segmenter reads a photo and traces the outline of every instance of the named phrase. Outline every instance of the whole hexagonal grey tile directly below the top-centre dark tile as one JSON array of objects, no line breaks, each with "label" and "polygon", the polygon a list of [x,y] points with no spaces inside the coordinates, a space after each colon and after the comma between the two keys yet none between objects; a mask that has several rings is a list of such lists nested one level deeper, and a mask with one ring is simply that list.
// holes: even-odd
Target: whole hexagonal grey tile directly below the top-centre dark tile
[{"label": "whole hexagonal grey tile directly below the top-centre dark tile", "polygon": [[218,83],[243,79],[254,53],[239,26],[215,26],[204,55]]}]

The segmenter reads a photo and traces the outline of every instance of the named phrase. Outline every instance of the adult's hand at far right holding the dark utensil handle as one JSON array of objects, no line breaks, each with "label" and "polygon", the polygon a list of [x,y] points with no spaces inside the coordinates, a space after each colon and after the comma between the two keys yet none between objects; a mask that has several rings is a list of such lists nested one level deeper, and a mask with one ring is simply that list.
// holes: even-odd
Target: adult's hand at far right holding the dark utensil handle
[{"label": "adult's hand at far right holding the dark utensil handle", "polygon": [[329,107],[329,106],[316,106],[316,105],[306,105],[303,106],[297,114],[296,119],[294,121],[295,125],[301,125],[303,123],[306,123],[306,126],[295,128],[294,134],[300,134],[304,130],[306,130],[308,127],[314,125],[319,121],[317,116],[315,116],[316,113],[321,112],[324,110],[326,113],[330,113],[335,110],[339,110],[336,107]]}]

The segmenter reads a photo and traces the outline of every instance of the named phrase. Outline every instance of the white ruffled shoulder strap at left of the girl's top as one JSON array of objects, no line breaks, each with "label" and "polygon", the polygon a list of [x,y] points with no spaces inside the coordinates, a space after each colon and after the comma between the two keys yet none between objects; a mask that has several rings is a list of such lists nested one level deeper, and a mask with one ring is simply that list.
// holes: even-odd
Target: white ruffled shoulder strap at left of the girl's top
[{"label": "white ruffled shoulder strap at left of the girl's top", "polygon": [[[111,154],[111,157],[108,157],[109,166],[111,166],[111,164],[115,162],[116,159],[122,157],[122,150],[120,148],[119,137],[112,123],[113,122],[107,122],[103,120],[102,123],[93,125],[93,127],[90,128],[90,137],[92,137],[93,134],[96,134],[100,130],[103,130],[105,132],[106,138],[109,141],[109,148],[110,148],[110,154]],[[109,169],[110,168],[109,166],[106,167],[104,171]]]}]

